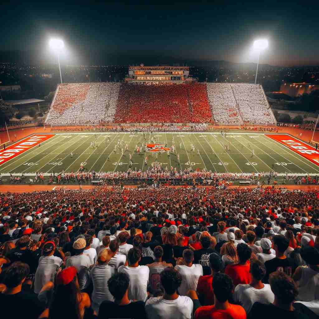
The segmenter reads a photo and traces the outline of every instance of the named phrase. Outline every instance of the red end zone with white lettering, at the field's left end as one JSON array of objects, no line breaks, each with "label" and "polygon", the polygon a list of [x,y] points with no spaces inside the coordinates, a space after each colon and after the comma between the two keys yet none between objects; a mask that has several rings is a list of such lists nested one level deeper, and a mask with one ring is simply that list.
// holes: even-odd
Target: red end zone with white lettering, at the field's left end
[{"label": "red end zone with white lettering, at the field's left end", "polygon": [[23,140],[15,143],[14,145],[9,146],[5,150],[0,152],[0,165],[12,159],[30,148],[48,140],[49,138],[55,136],[55,134],[33,134],[29,137],[24,138]]}]

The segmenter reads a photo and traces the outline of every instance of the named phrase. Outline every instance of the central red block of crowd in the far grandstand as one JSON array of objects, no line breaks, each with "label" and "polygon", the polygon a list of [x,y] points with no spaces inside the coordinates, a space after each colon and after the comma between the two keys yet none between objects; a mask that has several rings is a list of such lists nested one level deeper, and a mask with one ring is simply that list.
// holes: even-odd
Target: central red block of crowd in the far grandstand
[{"label": "central red block of crowd in the far grandstand", "polygon": [[124,84],[115,122],[207,123],[213,119],[204,84]]}]

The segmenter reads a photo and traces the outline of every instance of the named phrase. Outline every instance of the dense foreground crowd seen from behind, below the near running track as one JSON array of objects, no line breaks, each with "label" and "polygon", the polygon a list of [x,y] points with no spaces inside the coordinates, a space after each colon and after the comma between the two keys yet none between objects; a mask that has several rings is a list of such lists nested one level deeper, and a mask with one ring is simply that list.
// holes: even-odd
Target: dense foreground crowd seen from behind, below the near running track
[{"label": "dense foreground crowd seen from behind, below the near running track", "polygon": [[319,315],[317,190],[60,189],[1,194],[0,213],[14,318]]}]

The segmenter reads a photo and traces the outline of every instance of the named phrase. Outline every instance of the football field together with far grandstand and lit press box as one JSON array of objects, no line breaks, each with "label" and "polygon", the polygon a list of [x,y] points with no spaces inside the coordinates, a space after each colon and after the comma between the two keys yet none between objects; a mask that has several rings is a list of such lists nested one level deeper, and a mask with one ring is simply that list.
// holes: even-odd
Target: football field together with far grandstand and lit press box
[{"label": "football field together with far grandstand and lit press box", "polygon": [[7,145],[0,173],[50,185],[316,182],[319,153],[301,135],[277,125],[262,85],[141,64],[124,83],[58,85],[44,127]]}]

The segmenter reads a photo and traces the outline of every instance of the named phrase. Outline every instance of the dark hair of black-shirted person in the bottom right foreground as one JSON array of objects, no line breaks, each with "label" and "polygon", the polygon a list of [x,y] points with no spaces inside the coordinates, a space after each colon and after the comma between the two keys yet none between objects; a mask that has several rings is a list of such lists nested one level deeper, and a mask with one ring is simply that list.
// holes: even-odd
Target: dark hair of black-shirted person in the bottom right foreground
[{"label": "dark hair of black-shirted person in the bottom right foreground", "polygon": [[283,304],[290,304],[298,295],[295,282],[284,272],[275,271],[271,273],[269,283],[272,292]]}]

